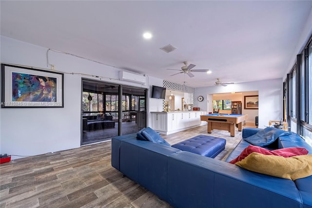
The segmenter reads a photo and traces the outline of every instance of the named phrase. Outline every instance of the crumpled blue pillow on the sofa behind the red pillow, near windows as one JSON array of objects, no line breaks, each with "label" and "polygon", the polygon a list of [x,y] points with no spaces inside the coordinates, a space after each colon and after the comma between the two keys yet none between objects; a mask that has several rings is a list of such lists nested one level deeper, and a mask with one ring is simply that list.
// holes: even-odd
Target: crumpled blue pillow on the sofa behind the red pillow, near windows
[{"label": "crumpled blue pillow on the sofa behind the red pillow, near windows", "polygon": [[290,131],[283,131],[274,127],[266,127],[265,129],[258,131],[256,134],[244,138],[244,140],[254,146],[268,146],[278,137],[290,134],[292,134]]}]

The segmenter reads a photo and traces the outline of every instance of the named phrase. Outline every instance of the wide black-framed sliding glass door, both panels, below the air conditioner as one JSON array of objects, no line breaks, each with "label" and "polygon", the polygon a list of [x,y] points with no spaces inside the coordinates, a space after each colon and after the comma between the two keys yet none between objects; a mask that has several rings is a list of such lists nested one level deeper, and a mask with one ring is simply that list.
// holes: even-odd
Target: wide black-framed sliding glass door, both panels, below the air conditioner
[{"label": "wide black-framed sliding glass door, both panels, below the air conditioner", "polygon": [[142,88],[83,79],[81,145],[135,133],[145,127],[146,94]]}]

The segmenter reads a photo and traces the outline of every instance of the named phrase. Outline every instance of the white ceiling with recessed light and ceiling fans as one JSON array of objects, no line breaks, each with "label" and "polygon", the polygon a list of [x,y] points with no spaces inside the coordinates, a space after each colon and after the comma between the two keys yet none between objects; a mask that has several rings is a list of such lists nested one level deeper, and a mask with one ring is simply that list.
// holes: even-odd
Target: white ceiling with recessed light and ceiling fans
[{"label": "white ceiling with recessed light and ceiling fans", "polygon": [[[308,1],[0,1],[1,35],[140,74],[209,86],[282,78]],[[151,40],[142,38],[145,31]],[[177,49],[160,50],[167,44]],[[188,61],[194,72],[170,76]],[[104,72],[99,71],[98,75]]]}]

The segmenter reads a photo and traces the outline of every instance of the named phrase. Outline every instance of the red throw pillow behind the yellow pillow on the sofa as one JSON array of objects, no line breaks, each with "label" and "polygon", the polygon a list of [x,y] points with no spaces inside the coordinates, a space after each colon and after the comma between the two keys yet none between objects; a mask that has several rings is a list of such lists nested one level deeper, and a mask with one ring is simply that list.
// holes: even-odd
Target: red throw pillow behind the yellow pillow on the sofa
[{"label": "red throw pillow behind the yellow pillow on the sofa", "polygon": [[283,157],[292,157],[297,155],[306,155],[308,154],[308,150],[303,147],[288,147],[282,149],[275,149],[269,150],[260,146],[247,146],[241,153],[236,157],[234,160],[230,161],[229,163],[235,164],[238,161],[241,161],[245,157],[247,157],[252,152],[258,152],[264,155],[276,155],[276,156],[283,156]]}]

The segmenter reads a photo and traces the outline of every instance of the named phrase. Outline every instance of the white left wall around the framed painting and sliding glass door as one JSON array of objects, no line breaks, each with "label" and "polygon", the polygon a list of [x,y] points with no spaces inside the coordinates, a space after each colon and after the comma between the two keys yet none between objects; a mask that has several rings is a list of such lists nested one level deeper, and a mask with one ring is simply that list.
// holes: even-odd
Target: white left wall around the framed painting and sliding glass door
[{"label": "white left wall around the framed painting and sliding glass door", "polygon": [[[1,63],[47,69],[47,48],[3,36],[0,37],[0,42]],[[66,73],[84,73],[118,79],[118,72],[121,71],[114,67],[51,51],[49,63],[55,64],[58,71],[65,72],[64,108],[0,108],[1,154],[38,155],[79,147],[82,76]],[[150,85],[162,86],[162,80],[151,77],[148,80],[151,81]],[[102,81],[149,87],[149,83],[141,85],[103,79]],[[162,106],[162,102],[153,101],[149,104],[150,110],[161,110],[159,106]]]}]

